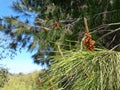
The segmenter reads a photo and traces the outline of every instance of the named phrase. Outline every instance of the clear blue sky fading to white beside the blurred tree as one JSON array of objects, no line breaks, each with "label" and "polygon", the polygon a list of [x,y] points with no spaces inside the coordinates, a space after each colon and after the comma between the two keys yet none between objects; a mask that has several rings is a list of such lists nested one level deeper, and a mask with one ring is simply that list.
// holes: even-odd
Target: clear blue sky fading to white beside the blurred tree
[{"label": "clear blue sky fading to white beside the blurred tree", "polygon": [[[0,0],[0,17],[17,15],[17,13],[10,8],[12,1],[16,0]],[[21,53],[17,52],[17,56],[12,60],[9,57],[0,60],[0,64],[8,68],[11,73],[30,73],[35,70],[40,70],[42,67],[33,63],[31,55],[32,53],[22,50]]]}]

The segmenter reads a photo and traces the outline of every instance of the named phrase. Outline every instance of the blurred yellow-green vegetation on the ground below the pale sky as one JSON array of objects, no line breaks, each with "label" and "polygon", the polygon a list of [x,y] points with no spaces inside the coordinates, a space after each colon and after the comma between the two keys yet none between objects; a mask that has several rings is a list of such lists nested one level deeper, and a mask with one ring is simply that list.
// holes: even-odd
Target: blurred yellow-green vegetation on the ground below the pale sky
[{"label": "blurred yellow-green vegetation on the ground below the pale sky", "polygon": [[38,75],[37,71],[31,74],[10,75],[10,80],[2,90],[39,90]]}]

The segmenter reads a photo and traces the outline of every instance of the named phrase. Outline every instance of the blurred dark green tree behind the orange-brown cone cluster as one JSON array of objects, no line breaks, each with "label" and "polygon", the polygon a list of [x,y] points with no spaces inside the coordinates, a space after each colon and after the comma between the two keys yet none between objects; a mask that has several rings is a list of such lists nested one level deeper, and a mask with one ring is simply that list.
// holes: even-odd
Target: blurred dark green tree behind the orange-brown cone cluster
[{"label": "blurred dark green tree behind the orange-brown cone cluster", "polygon": [[[97,47],[119,50],[119,4],[118,0],[18,0],[12,8],[23,16],[1,19],[1,30],[12,38],[10,48],[37,49],[33,58],[38,64],[50,64],[45,55],[55,54],[58,47],[79,48],[85,32],[84,17]],[[32,17],[33,14],[36,16]],[[20,17],[26,20],[21,21]]]}]

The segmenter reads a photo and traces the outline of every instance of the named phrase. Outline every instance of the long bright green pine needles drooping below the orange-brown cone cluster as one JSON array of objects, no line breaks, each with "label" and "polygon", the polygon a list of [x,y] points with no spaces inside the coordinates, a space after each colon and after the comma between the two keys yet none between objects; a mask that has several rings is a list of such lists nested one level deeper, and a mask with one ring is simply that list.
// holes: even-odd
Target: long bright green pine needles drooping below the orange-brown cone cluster
[{"label": "long bright green pine needles drooping below the orange-brown cone cluster", "polygon": [[57,55],[43,75],[43,87],[49,90],[119,90],[120,53],[100,50],[70,51]]}]

